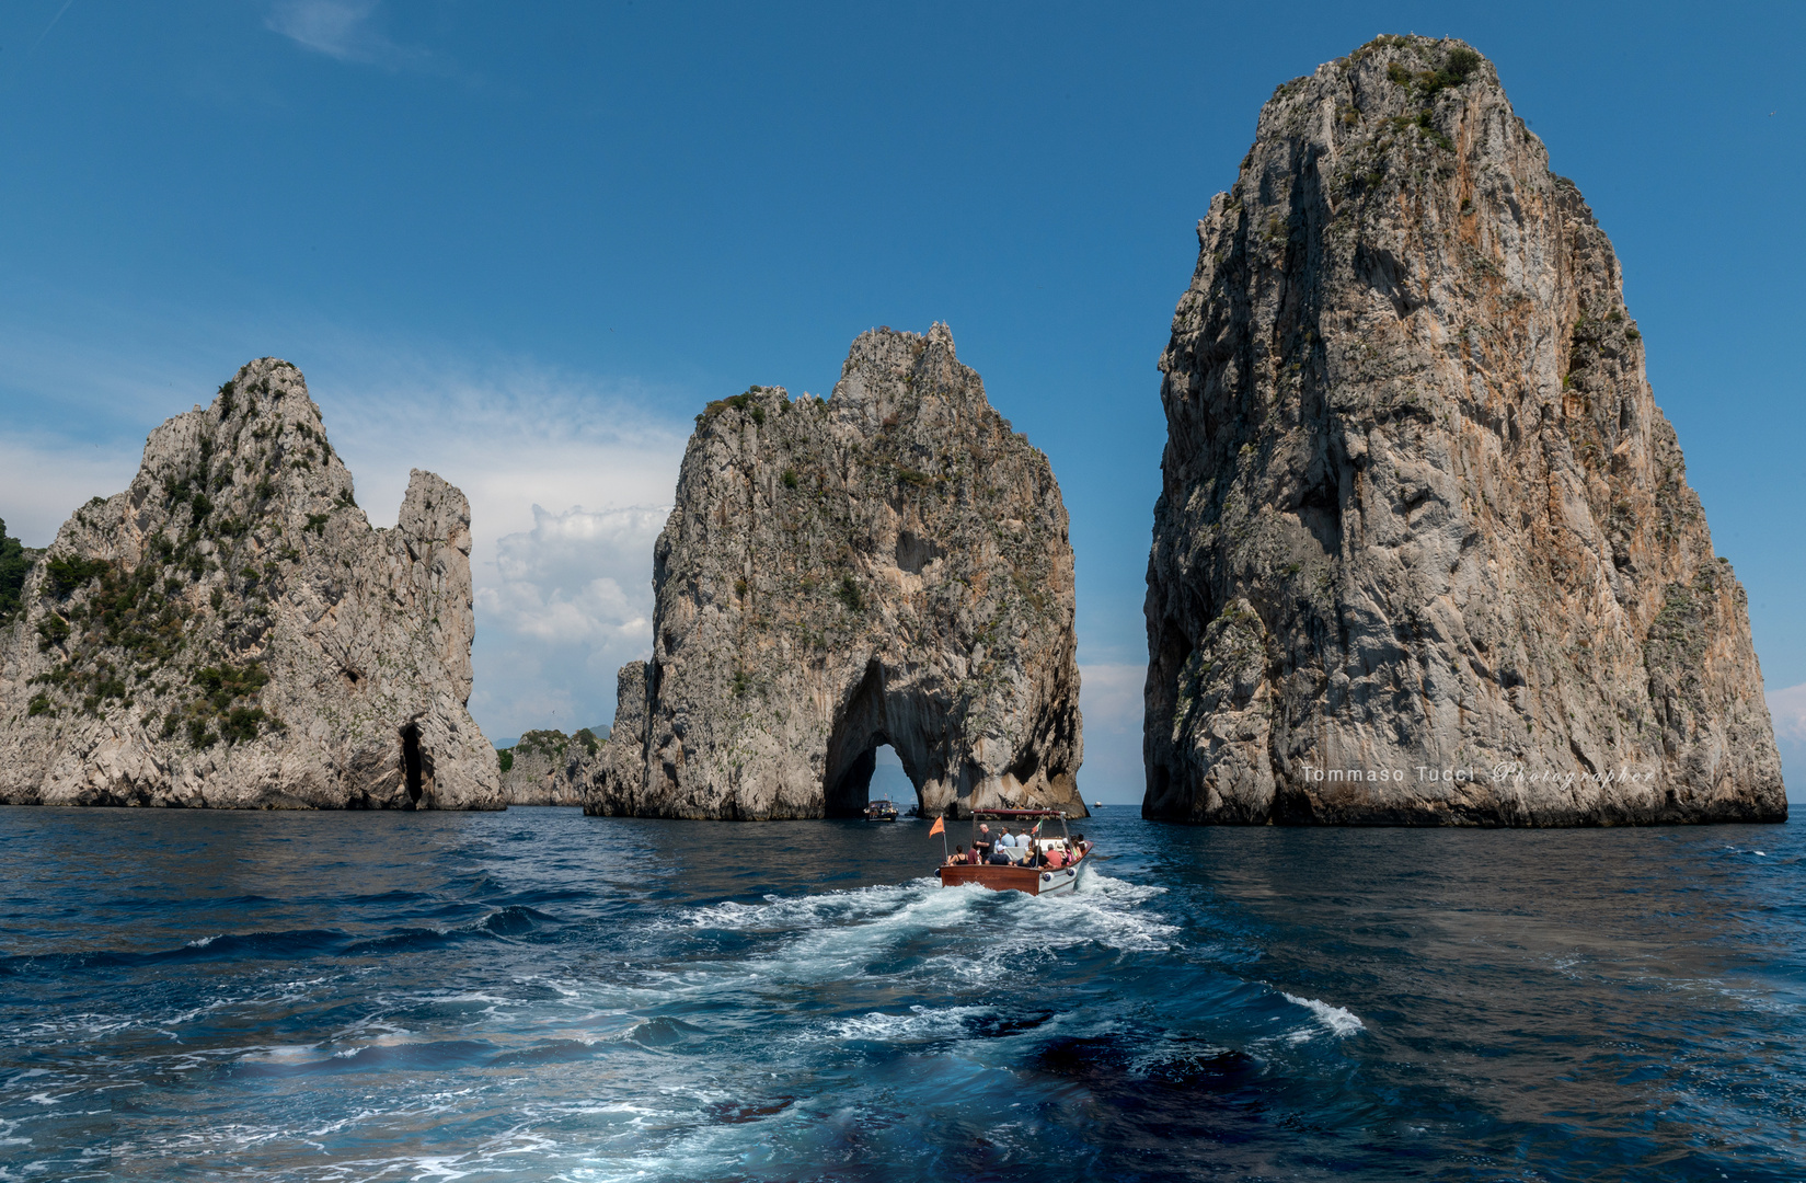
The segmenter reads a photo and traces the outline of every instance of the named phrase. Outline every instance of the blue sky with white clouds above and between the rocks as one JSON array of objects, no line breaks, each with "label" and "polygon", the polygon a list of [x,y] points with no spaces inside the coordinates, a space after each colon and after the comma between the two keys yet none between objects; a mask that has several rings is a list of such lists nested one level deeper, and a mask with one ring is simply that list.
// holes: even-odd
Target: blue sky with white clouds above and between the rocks
[{"label": "blue sky with white clouds above and between the rocks", "polygon": [[1156,361],[1273,88],[1461,36],[1593,206],[1806,800],[1806,5],[0,5],[0,518],[296,363],[376,524],[471,498],[491,737],[607,722],[695,410],[946,321],[1073,522],[1085,796],[1141,796]]}]

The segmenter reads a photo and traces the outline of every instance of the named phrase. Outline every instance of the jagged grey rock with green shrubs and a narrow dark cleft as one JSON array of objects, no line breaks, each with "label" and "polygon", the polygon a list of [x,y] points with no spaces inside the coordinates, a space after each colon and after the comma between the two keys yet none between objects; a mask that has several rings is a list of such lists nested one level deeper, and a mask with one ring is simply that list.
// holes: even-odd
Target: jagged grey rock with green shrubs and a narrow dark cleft
[{"label": "jagged grey rock with green shrubs and a narrow dark cleft", "polygon": [[470,504],[415,471],[372,529],[300,370],[170,419],[0,630],[0,800],[500,809],[470,712]]}]

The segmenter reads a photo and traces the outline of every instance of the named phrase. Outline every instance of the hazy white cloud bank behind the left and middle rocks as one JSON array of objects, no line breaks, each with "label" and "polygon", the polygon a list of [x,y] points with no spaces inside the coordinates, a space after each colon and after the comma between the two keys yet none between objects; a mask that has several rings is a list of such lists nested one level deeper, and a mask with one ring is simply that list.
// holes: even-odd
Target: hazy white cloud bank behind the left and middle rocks
[{"label": "hazy white cloud bank behind the left and middle rocks", "polygon": [[690,406],[688,392],[330,325],[150,329],[110,345],[0,329],[7,533],[43,545],[132,480],[150,428],[209,401],[269,341],[298,345],[282,352],[376,526],[394,524],[412,468],[470,497],[484,731],[612,719],[616,668],[650,650],[652,544],[690,432],[657,408]]}]

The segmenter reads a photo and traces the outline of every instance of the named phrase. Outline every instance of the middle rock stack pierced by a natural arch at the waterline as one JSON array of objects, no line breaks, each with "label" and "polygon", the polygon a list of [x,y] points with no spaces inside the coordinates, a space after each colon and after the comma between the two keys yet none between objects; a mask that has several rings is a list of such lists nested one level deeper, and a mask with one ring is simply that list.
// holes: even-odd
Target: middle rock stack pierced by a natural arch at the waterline
[{"label": "middle rock stack pierced by a natural arch at the waterline", "polygon": [[851,816],[887,742],[926,811],[1084,813],[1066,506],[945,325],[697,415],[652,583],[589,813]]}]

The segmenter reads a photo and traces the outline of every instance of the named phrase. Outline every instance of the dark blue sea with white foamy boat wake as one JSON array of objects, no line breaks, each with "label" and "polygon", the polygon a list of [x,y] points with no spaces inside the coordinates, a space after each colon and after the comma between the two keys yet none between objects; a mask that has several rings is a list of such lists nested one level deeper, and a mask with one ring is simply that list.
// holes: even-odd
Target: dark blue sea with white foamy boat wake
[{"label": "dark blue sea with white foamy boat wake", "polygon": [[1806,1178],[1799,827],[1084,829],[0,809],[0,1179]]}]

